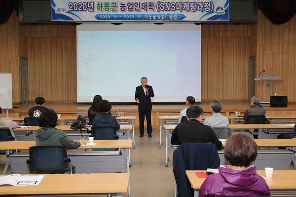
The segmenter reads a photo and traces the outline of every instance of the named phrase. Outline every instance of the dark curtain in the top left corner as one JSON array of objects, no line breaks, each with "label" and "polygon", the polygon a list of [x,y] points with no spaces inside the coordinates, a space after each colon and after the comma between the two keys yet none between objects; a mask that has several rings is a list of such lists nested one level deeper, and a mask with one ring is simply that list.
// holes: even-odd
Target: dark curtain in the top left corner
[{"label": "dark curtain in the top left corner", "polygon": [[18,0],[0,0],[0,24],[7,22],[13,10],[18,14]]}]

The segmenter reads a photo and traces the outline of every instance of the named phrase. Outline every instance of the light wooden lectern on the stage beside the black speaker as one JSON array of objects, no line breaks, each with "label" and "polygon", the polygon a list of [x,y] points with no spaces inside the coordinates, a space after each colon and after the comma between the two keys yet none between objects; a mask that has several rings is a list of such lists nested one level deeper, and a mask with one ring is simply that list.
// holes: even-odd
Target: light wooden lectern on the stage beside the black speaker
[{"label": "light wooden lectern on the stage beside the black speaker", "polygon": [[273,95],[273,82],[275,80],[281,80],[278,77],[270,77],[270,76],[265,76],[265,77],[257,77],[255,80],[260,80],[263,82],[263,98],[261,103],[269,103],[270,102],[270,96]]}]

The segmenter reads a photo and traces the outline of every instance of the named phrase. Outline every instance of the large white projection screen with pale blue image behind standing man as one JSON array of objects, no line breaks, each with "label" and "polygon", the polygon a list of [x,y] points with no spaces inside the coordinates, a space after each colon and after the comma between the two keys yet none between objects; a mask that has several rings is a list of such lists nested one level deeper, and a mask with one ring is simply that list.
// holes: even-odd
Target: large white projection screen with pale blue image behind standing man
[{"label": "large white projection screen with pale blue image behind standing man", "polygon": [[77,102],[96,94],[111,102],[135,102],[148,78],[152,102],[201,101],[201,25],[77,25]]}]

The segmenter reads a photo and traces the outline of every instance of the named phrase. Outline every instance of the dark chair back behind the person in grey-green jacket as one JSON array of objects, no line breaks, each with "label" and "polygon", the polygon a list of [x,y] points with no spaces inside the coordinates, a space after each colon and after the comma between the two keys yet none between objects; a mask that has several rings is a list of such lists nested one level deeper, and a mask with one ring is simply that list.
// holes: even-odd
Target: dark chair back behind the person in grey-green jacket
[{"label": "dark chair back behind the person in grey-green jacket", "polygon": [[[43,174],[53,171],[62,170],[70,165],[70,173],[72,174],[71,159],[67,156],[65,146],[32,146],[29,149],[30,157],[27,159],[28,173],[34,171],[44,172]],[[61,171],[61,173],[63,173]]]}]

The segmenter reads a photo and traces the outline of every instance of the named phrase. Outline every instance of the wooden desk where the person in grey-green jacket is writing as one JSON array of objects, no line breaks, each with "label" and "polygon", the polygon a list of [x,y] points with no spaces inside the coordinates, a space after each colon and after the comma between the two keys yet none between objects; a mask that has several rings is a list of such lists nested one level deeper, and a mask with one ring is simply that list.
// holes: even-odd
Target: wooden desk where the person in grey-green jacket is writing
[{"label": "wooden desk where the person in grey-green jacket is writing", "polygon": [[[73,165],[76,166],[77,173],[129,172],[128,165],[131,167],[131,163],[129,163],[130,152],[124,149],[132,148],[132,140],[94,140],[94,142],[96,143],[96,146],[82,146],[78,147],[78,149],[119,148],[121,154],[109,155],[108,152],[106,152],[104,155],[98,155],[103,152],[97,151],[92,152],[97,154],[93,155],[89,154],[89,152],[80,151],[78,152],[80,156],[77,156],[77,153],[68,152],[68,156],[71,158]],[[1,142],[0,150],[29,150],[31,146],[35,146],[35,141]],[[13,155],[14,154],[12,154],[12,156]],[[6,174],[8,165],[11,166],[13,173],[26,173],[26,160],[28,158],[28,153],[21,153],[20,156],[17,157],[8,156],[3,174]],[[130,194],[130,190],[128,193]]]}]

